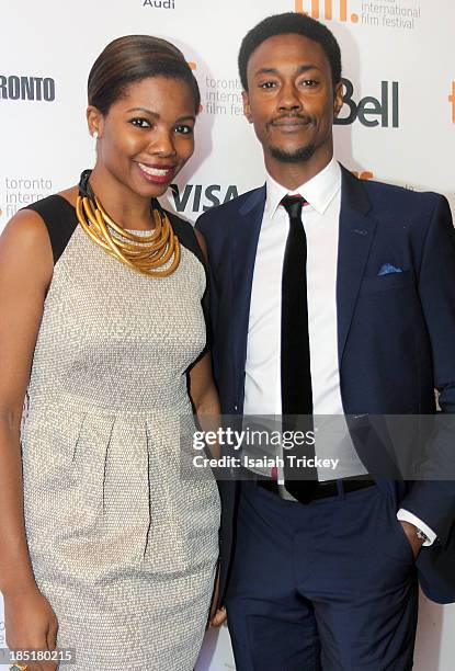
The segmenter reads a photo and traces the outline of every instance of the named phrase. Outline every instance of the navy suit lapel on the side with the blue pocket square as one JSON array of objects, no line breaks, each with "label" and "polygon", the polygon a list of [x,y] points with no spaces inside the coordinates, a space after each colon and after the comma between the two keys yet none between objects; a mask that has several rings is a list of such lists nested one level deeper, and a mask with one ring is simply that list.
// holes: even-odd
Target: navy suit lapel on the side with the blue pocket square
[{"label": "navy suit lapel on the side with the blue pocket square", "polygon": [[361,180],[342,167],[340,232],[338,246],[337,314],[338,356],[341,361],[359,289],[376,230],[376,218]]}]

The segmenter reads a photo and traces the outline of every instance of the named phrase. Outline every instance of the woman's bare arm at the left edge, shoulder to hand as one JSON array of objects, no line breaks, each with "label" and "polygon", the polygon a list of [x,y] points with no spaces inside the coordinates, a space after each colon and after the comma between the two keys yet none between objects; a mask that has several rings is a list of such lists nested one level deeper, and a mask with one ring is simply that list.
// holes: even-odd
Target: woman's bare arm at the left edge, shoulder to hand
[{"label": "woman's bare arm at the left edge, shoulder to hand", "polygon": [[57,629],[29,556],[20,446],[24,397],[53,266],[44,221],[32,211],[20,212],[0,237],[0,591],[10,648],[46,649],[55,644]]}]

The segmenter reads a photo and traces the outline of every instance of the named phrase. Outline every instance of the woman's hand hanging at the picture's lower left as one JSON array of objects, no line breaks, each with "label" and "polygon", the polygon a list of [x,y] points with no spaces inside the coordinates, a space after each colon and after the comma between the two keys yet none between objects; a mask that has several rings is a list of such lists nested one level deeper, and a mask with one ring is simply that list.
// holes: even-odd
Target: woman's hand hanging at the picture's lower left
[{"label": "woman's hand hanging at the picture's lower left", "polygon": [[[57,617],[47,599],[37,588],[3,595],[7,645],[10,650],[55,650]],[[57,662],[30,662],[29,671],[55,671]]]}]

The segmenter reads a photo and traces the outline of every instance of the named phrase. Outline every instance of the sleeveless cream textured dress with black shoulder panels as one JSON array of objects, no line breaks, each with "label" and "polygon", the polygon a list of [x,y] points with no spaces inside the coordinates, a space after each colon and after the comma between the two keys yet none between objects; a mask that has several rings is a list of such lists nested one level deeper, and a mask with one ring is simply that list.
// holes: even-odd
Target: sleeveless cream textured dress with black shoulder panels
[{"label": "sleeveless cream textured dress with black shoulder panels", "polygon": [[201,250],[168,213],[180,265],[148,277],[61,196],[30,207],[55,266],[22,431],[24,515],[57,645],[76,650],[71,671],[192,671],[219,526],[216,482],[189,474],[180,439],[194,429],[186,369],[206,345]]}]

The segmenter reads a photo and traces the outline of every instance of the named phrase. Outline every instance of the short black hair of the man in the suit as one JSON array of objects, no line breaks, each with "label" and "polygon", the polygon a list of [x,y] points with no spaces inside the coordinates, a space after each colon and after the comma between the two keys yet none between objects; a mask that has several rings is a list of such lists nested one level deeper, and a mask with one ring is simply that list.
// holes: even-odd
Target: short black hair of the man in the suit
[{"label": "short black hair of the man in the suit", "polygon": [[333,33],[323,23],[306,14],[286,12],[268,16],[243,37],[239,52],[239,73],[244,91],[248,91],[248,61],[254,49],[269,37],[288,34],[303,35],[320,44],[330,64],[333,86],[339,83],[341,80],[341,52]]}]

